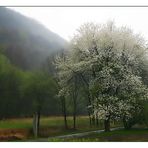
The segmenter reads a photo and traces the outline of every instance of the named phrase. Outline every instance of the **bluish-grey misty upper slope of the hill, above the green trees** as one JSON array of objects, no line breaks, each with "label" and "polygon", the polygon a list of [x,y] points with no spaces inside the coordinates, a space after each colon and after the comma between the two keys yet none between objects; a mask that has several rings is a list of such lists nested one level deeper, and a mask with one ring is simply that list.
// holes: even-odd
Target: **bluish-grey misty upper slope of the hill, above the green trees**
[{"label": "bluish-grey misty upper slope of the hill, above the green trees", "polygon": [[23,69],[39,68],[67,42],[37,21],[0,7],[0,48]]}]

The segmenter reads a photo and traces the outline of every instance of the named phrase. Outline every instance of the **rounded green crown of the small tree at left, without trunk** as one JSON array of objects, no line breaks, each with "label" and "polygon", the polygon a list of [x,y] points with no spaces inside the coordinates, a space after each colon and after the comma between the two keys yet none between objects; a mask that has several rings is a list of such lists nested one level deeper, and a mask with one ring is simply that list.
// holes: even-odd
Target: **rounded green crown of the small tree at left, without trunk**
[{"label": "rounded green crown of the small tree at left, without trunk", "polygon": [[28,98],[34,111],[41,110],[43,105],[55,98],[57,84],[53,78],[44,73],[30,73],[24,86],[25,98]]}]

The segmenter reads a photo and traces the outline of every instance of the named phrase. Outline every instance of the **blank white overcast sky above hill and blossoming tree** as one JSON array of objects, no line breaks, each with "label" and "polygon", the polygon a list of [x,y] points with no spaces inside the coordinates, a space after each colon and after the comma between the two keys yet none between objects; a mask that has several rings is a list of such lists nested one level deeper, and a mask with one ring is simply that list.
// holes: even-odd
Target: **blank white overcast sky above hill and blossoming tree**
[{"label": "blank white overcast sky above hill and blossoming tree", "polygon": [[148,40],[147,7],[11,7],[11,9],[38,20],[68,41],[83,23],[105,23],[109,20],[114,20],[117,26],[130,27]]}]

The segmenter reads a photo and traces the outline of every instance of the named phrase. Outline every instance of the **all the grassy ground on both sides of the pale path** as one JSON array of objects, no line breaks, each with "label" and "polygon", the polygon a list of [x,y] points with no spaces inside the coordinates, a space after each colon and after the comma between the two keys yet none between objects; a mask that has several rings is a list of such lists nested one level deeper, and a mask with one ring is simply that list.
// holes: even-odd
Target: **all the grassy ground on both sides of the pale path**
[{"label": "all the grassy ground on both sides of the pale path", "polygon": [[[77,118],[77,129],[72,128],[72,117],[68,117],[69,129],[65,130],[63,117],[42,117],[39,138],[73,134],[85,131],[103,129],[103,123],[98,127],[90,127],[87,116]],[[111,127],[122,126],[111,124]],[[9,119],[0,121],[0,141],[30,141],[33,140],[32,118]],[[35,140],[35,139],[34,139]],[[38,139],[36,139],[37,141]],[[148,141],[148,129],[117,130],[111,132],[93,133],[81,138],[53,139],[52,142],[102,142],[102,141]]]}]

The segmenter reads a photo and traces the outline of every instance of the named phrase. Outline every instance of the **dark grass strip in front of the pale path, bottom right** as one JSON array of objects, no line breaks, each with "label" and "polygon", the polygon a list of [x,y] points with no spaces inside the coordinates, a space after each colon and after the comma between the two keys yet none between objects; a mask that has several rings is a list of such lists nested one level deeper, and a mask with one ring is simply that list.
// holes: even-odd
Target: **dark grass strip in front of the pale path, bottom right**
[{"label": "dark grass strip in front of the pale path, bottom right", "polygon": [[81,138],[53,139],[51,142],[148,142],[148,129],[117,130]]}]

